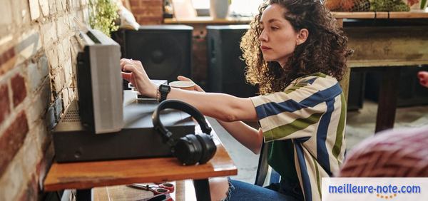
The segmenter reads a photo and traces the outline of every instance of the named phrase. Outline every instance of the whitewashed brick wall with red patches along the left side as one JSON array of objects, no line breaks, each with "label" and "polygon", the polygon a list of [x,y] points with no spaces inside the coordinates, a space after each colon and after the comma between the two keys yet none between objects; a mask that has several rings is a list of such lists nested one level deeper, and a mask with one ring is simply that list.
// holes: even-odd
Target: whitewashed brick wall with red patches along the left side
[{"label": "whitewashed brick wall with red patches along the left side", "polygon": [[49,130],[76,92],[73,19],[88,21],[88,0],[1,2],[0,200],[38,200]]}]

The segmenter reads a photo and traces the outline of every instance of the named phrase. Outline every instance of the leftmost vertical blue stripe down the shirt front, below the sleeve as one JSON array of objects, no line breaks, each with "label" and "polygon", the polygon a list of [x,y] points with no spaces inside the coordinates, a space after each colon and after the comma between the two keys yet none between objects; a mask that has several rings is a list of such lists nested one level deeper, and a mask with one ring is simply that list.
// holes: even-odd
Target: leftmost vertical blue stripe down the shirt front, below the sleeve
[{"label": "leftmost vertical blue stripe down the shirt front, below the sleeve", "polygon": [[312,201],[312,190],[310,187],[309,175],[307,175],[307,167],[305,162],[305,155],[303,154],[302,144],[297,142],[293,144],[295,145],[295,148],[296,148],[297,160],[300,166],[300,177],[302,177],[303,191],[304,191],[303,194],[305,194],[306,201]]}]

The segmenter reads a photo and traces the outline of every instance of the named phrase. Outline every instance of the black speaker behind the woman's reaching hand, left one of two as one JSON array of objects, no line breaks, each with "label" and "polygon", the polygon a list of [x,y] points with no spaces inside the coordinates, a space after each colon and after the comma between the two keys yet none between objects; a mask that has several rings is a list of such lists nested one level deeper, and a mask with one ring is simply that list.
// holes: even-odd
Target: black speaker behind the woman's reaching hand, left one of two
[{"label": "black speaker behind the woman's reaching hand, left one of two", "polygon": [[176,81],[191,77],[193,27],[185,25],[140,26],[112,33],[121,44],[122,57],[139,60],[151,79]]}]

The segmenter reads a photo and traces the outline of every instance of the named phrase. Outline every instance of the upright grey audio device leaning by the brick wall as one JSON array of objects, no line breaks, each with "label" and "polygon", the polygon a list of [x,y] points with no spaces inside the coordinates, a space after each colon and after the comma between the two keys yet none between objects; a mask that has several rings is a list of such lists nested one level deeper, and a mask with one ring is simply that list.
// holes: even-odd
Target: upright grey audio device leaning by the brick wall
[{"label": "upright grey audio device leaning by the brick wall", "polygon": [[96,29],[79,34],[83,48],[77,56],[78,109],[92,133],[118,132],[123,123],[121,47]]}]

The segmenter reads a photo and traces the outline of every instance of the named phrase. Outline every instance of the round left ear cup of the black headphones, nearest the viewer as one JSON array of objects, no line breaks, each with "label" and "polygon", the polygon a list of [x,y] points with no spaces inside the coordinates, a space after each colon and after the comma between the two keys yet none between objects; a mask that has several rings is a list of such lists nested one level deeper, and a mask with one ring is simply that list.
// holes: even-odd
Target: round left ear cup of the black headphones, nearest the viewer
[{"label": "round left ear cup of the black headphones, nearest the viewer", "polygon": [[180,138],[174,146],[174,155],[184,165],[195,165],[202,156],[202,145],[196,135],[189,134]]}]

